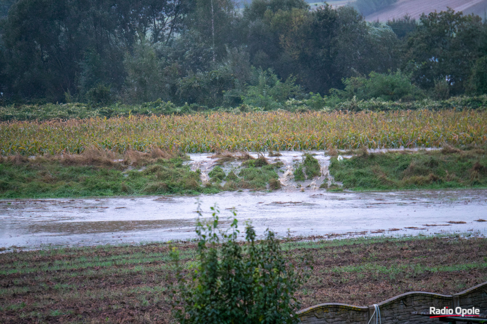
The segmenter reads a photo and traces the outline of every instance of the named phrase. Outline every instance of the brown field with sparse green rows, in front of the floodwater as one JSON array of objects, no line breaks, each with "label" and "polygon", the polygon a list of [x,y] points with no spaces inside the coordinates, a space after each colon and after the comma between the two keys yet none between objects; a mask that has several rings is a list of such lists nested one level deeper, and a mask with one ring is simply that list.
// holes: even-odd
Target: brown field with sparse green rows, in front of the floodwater
[{"label": "brown field with sparse green rows, in front of the floodwater", "polygon": [[[187,269],[196,244],[177,244]],[[458,293],[487,281],[487,239],[453,236],[283,241],[290,261],[313,255],[302,307],[371,305],[408,291]],[[170,322],[168,244],[0,254],[5,323]],[[441,251],[441,253],[438,253]]]}]

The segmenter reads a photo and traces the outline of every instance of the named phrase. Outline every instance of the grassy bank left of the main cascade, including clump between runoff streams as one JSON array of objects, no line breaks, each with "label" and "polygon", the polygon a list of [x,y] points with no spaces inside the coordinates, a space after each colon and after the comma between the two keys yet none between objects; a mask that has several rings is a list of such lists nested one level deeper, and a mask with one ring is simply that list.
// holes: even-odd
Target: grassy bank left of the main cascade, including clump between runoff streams
[{"label": "grassy bank left of the main cascade, including clump between runoff streams", "polygon": [[192,171],[184,164],[185,154],[157,147],[146,153],[88,149],[81,154],[35,158],[17,154],[0,157],[0,198],[198,194],[281,187],[276,170],[282,163],[268,164],[264,156],[255,159],[248,153],[236,158],[244,161],[241,167],[226,174],[216,166],[208,174],[210,182],[203,183],[200,170]]}]

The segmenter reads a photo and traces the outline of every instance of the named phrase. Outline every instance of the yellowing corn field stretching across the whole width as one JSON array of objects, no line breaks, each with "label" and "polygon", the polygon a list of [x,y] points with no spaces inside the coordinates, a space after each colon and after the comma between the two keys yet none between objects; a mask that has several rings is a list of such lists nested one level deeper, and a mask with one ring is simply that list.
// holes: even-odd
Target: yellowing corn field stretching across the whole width
[{"label": "yellowing corn field stretching across the whole width", "polygon": [[487,143],[487,111],[214,113],[0,123],[2,155],[435,147]]}]

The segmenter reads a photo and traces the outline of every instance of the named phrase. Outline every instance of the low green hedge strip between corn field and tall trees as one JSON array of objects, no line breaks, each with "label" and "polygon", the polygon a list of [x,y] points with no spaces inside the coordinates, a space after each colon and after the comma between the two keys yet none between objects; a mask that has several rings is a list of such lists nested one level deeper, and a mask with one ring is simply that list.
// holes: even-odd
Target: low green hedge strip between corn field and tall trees
[{"label": "low green hedge strip between corn field and tall trees", "polygon": [[[321,98],[321,99],[320,99]],[[245,109],[221,108],[219,111],[232,113],[258,111],[260,108],[244,105]],[[486,109],[487,95],[474,97],[451,97],[446,100],[423,99],[415,101],[392,102],[381,99],[357,100],[342,99],[337,96],[319,97],[311,96],[311,99],[288,100],[278,109],[288,111],[307,110],[445,110],[455,108],[463,109]],[[6,120],[47,120],[47,119],[72,119],[90,117],[115,117],[129,115],[171,115],[191,114],[195,112],[207,113],[210,109],[197,104],[178,107],[172,102],[164,102],[160,99],[153,102],[146,102],[140,105],[125,105],[115,103],[109,106],[90,106],[83,103],[68,104],[43,104],[43,105],[9,105],[0,106],[0,121]]]}]

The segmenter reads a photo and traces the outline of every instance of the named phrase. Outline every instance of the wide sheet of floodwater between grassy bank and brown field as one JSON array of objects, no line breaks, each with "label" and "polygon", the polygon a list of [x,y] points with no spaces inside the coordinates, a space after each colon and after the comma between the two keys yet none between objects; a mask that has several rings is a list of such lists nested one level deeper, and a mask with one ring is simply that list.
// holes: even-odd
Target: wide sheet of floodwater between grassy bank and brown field
[{"label": "wide sheet of floodwater between grassy bank and brown field", "polygon": [[195,237],[219,207],[223,224],[235,208],[241,229],[317,238],[356,235],[475,233],[484,235],[487,190],[327,192],[321,189],[222,192],[196,196],[0,200],[0,248],[84,246]]}]

